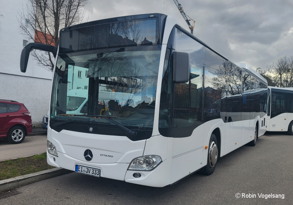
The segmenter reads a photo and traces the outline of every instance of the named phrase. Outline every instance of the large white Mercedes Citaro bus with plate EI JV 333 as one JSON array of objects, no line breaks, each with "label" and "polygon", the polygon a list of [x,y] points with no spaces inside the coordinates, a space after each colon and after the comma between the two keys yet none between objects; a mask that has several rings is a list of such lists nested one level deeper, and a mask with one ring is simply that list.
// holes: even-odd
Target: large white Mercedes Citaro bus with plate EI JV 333
[{"label": "large white Mercedes Citaro bus with plate EI JV 333", "polygon": [[[266,95],[267,81],[164,14],[64,28],[58,50],[37,43],[23,49],[22,72],[32,49],[56,57],[49,165],[164,187],[199,170],[211,175],[218,157],[247,143],[254,146],[265,132],[266,100],[260,99],[266,96],[260,93]],[[88,89],[83,115],[67,111],[67,93],[77,85]],[[132,99],[121,104],[108,95],[112,99],[105,105],[99,94],[105,92]]]}]

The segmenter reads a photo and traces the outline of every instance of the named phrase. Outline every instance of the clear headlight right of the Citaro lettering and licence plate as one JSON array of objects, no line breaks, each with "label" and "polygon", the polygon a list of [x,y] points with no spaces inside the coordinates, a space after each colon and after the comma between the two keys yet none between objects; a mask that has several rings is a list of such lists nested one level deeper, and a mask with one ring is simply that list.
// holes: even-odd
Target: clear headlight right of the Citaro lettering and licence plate
[{"label": "clear headlight right of the Citaro lettering and licence plate", "polygon": [[128,170],[142,170],[142,171],[149,171],[154,169],[162,162],[160,156],[157,155],[148,155],[135,158],[130,163]]}]

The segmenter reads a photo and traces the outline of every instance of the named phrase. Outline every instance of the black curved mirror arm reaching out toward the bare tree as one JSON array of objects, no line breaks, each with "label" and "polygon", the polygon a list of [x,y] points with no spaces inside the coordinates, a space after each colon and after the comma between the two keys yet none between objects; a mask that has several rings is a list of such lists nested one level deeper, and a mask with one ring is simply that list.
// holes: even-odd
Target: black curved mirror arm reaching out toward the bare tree
[{"label": "black curved mirror arm reaching out toward the bare tree", "polygon": [[42,50],[42,51],[51,52],[54,55],[54,58],[55,58],[58,48],[55,47],[55,46],[45,45],[45,44],[42,44],[42,43],[29,43],[28,45],[26,45],[22,49],[21,57],[20,57],[20,70],[23,73],[26,72],[26,67],[28,66],[28,58],[30,57],[30,52],[33,49],[38,49],[38,50]]}]

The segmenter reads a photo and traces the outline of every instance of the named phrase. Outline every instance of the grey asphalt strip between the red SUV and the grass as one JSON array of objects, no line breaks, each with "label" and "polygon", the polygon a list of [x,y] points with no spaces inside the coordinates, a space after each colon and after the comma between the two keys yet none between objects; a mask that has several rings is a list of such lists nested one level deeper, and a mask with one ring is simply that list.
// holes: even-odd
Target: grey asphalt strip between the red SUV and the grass
[{"label": "grey asphalt strip between the red SUV and the grass", "polygon": [[0,139],[0,161],[41,154],[46,152],[46,149],[47,135],[28,135],[20,144],[10,144]]}]

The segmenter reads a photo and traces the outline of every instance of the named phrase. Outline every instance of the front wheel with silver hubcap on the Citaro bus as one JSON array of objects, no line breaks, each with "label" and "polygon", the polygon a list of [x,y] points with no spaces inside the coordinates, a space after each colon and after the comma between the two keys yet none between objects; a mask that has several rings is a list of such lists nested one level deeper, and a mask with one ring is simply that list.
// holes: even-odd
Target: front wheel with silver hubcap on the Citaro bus
[{"label": "front wheel with silver hubcap on the Citaro bus", "polygon": [[211,175],[214,173],[216,163],[219,158],[218,156],[218,142],[216,135],[212,134],[209,140],[209,149],[207,154],[207,165],[200,170],[201,174]]}]

